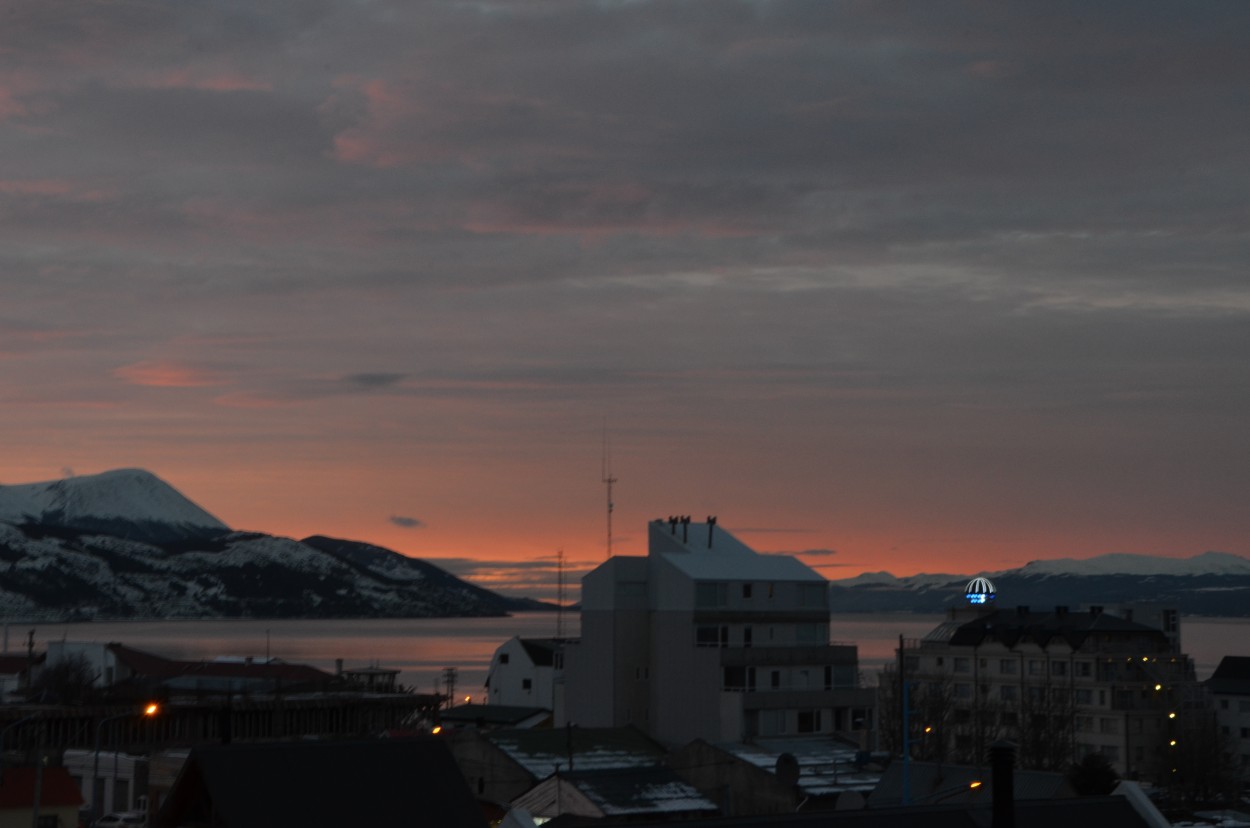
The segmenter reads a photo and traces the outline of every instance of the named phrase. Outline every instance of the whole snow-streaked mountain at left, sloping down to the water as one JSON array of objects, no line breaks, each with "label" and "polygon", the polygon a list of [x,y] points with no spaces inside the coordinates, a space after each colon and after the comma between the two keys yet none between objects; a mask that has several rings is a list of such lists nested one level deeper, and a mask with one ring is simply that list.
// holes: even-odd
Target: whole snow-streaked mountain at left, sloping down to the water
[{"label": "whole snow-streaked mountain at left, sloping down to the water", "polygon": [[6,619],[425,618],[544,607],[366,543],[235,532],[140,469],[0,485]]}]

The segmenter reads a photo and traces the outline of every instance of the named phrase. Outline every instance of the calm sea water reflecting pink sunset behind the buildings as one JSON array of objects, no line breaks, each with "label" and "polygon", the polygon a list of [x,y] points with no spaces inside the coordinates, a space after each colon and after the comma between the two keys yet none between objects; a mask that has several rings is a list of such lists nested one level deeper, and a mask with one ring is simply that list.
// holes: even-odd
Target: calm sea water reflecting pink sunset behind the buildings
[{"label": "calm sea water reflecting pink sunset behind the buildings", "polygon": [[[899,635],[920,638],[940,615],[834,615],[830,637],[858,644],[868,680],[894,658]],[[10,650],[25,647],[35,630],[35,647],[49,640],[120,642],[136,649],[179,659],[272,655],[286,662],[332,670],[345,667],[389,667],[400,682],[434,692],[444,668],[458,672],[456,694],[484,697],[484,683],[495,648],[511,638],[556,634],[554,613],[518,613],[509,618],[412,618],[361,620],[169,620],[96,622],[89,624],[15,624],[5,627]],[[565,635],[578,634],[578,614],[564,613]],[[1181,642],[1194,658],[1200,679],[1209,678],[1224,655],[1250,655],[1250,618],[1181,619]]]}]

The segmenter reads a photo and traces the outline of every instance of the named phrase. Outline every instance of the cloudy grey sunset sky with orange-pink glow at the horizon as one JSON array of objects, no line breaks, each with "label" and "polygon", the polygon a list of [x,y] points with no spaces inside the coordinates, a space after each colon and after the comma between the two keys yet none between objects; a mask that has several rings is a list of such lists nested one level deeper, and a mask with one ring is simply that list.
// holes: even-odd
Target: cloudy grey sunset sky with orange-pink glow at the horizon
[{"label": "cloudy grey sunset sky with orange-pink glow at the horizon", "polygon": [[605,477],[615,554],[1250,554],[1250,4],[0,14],[0,483],[539,597]]}]

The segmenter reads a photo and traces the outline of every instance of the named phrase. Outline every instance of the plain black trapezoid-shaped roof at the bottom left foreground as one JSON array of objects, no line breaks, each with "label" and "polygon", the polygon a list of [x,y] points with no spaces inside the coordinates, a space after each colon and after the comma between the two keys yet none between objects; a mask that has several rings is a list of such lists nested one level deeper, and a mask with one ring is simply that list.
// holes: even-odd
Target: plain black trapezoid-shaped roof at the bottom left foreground
[{"label": "plain black trapezoid-shaped roof at the bottom left foreground", "polygon": [[485,828],[442,740],[286,742],[191,750],[156,825]]}]

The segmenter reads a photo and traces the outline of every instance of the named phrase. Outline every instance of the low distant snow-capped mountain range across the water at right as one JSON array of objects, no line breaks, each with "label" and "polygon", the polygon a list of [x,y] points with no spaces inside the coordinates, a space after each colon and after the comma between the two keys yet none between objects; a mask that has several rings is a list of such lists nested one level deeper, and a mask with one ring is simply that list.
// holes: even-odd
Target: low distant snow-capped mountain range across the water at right
[{"label": "low distant snow-capped mountain range across the water at right", "polygon": [[865,573],[831,582],[830,605],[835,613],[940,613],[965,603],[964,588],[975,575],[994,582],[1000,607],[1076,609],[1158,602],[1192,615],[1250,615],[1250,559],[1222,552],[1034,560],[1019,569],[965,575]]}]

